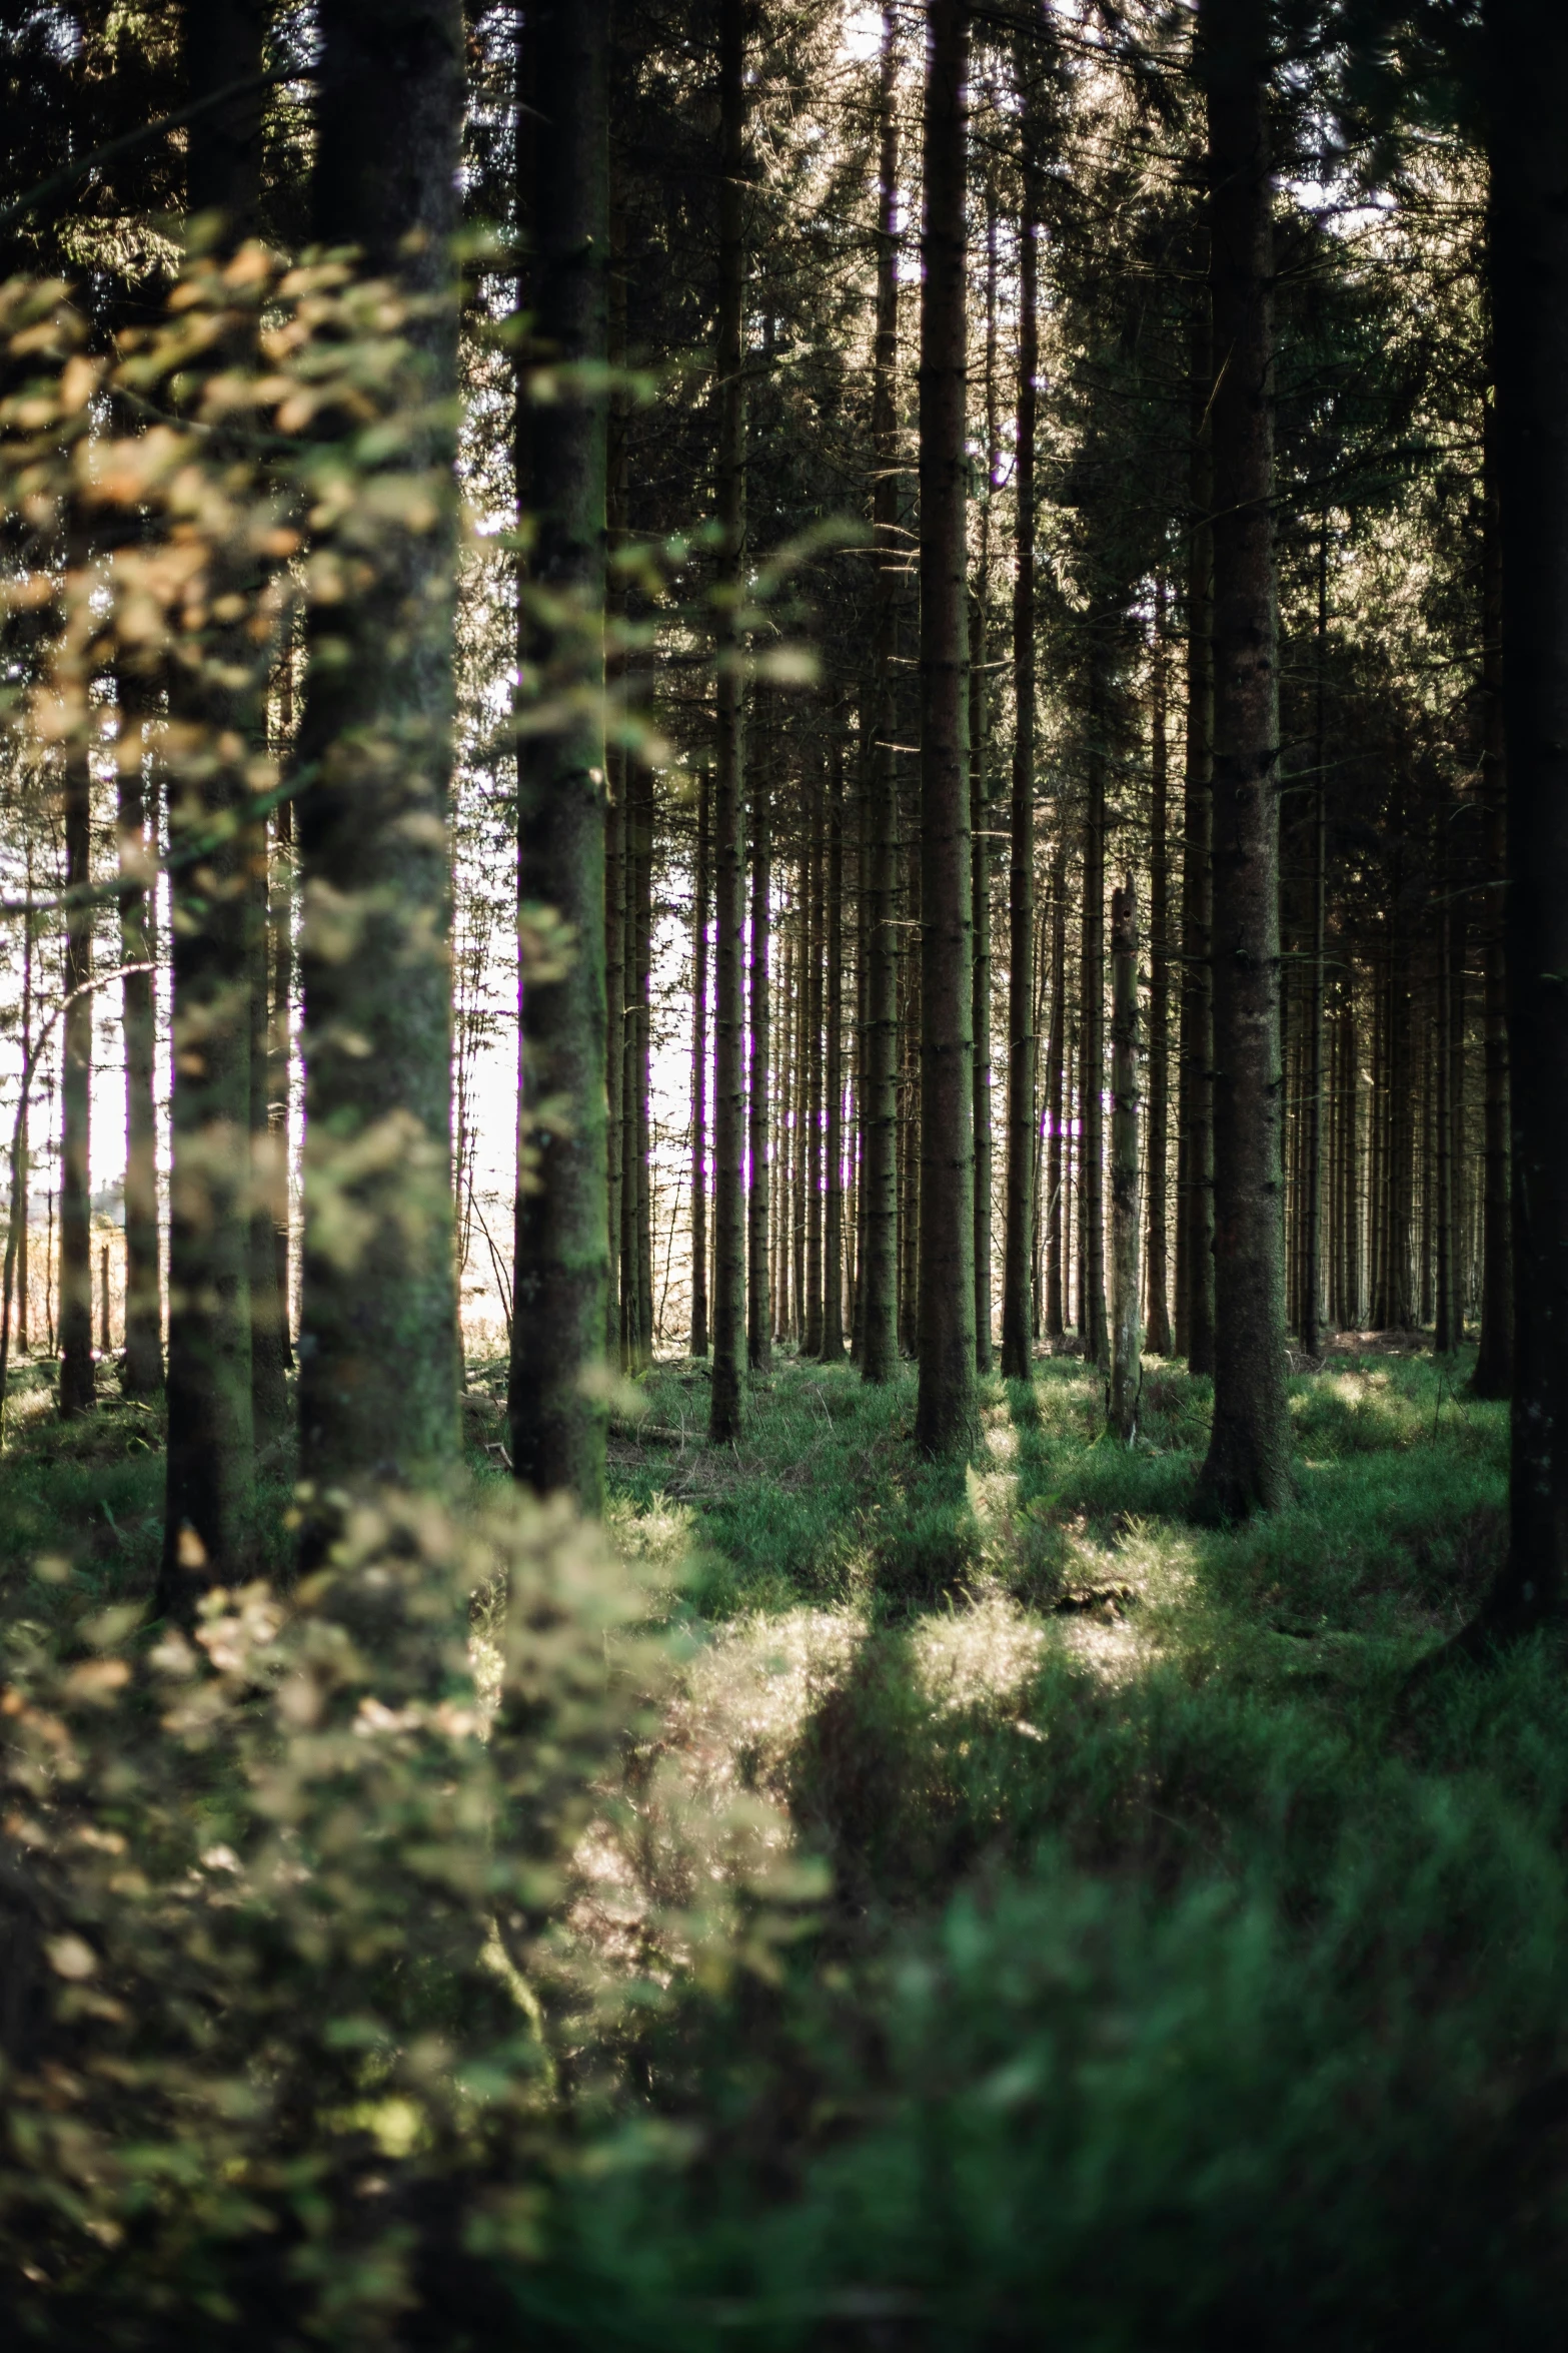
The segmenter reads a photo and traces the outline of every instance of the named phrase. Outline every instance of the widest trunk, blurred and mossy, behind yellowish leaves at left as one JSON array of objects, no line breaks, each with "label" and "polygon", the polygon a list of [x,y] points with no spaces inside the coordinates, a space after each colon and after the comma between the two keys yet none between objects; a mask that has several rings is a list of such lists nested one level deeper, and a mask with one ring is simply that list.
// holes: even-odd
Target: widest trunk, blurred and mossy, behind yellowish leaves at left
[{"label": "widest trunk, blurred and mossy, behind yellowish leaves at left", "polygon": [[[322,0],[317,235],[357,245],[425,311],[409,334],[456,398],[456,0]],[[390,534],[374,584],[317,619],[299,760],[301,887],[348,901],[350,958],[306,932],[301,1471],[317,1497],[442,1480],[458,1452],[447,965],[456,468],[433,424],[409,464],[442,518]],[[346,659],[331,659],[331,656]],[[341,1247],[339,1198],[364,1221]],[[313,1518],[306,1558],[327,1534]]]}]

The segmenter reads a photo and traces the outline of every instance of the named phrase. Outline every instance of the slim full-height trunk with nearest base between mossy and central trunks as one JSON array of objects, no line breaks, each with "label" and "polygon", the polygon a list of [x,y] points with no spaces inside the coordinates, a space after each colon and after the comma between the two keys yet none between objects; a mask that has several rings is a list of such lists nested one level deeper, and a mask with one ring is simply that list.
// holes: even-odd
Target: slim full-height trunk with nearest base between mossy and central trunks
[{"label": "slim full-height trunk with nearest base between mossy and central trunks", "polygon": [[712,1445],[741,1435],[745,1355],[745,1012],[741,1002],[741,929],[745,859],[743,706],[736,607],[745,553],[745,7],[719,0],[719,682],[715,729],[715,1299],[712,1299]]}]

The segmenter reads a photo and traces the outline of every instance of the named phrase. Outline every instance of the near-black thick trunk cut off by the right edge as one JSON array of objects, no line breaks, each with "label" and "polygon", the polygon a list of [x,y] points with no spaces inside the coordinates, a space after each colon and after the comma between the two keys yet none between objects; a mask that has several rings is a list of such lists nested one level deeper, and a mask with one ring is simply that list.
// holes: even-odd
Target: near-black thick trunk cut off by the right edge
[{"label": "near-black thick trunk cut off by the right edge", "polygon": [[1493,0],[1514,1181],[1509,1558],[1486,1626],[1568,1605],[1568,24]]}]

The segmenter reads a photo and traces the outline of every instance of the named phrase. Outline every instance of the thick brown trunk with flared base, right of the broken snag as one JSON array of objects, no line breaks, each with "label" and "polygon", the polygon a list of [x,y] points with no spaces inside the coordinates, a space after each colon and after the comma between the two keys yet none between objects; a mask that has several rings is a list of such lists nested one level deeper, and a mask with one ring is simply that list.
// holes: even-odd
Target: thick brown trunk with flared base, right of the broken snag
[{"label": "thick brown trunk with flared base, right of the broken snag", "polygon": [[1267,19],[1206,0],[1213,393],[1215,1393],[1199,1501],[1291,1494],[1279,1136],[1279,678]]}]

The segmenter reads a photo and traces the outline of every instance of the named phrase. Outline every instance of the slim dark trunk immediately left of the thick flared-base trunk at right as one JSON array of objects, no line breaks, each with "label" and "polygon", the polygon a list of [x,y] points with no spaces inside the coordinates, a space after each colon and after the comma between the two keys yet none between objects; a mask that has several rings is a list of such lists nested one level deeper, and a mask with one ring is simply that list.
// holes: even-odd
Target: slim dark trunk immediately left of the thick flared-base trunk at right
[{"label": "slim dark trunk immediately left of the thick flared-base trunk at right", "polygon": [[1213,1372],[1213,327],[1192,320],[1175,1351]]}]

